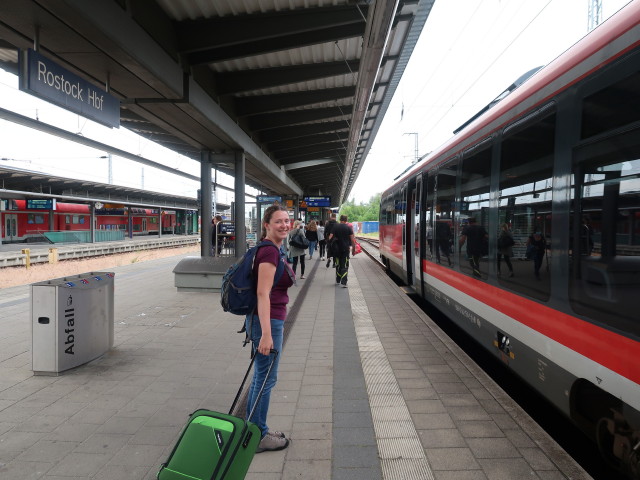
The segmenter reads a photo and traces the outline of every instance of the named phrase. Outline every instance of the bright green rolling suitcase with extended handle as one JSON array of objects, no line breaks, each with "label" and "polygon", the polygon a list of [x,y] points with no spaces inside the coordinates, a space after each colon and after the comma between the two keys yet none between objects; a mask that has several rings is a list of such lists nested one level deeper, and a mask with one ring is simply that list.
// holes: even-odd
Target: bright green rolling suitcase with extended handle
[{"label": "bright green rolling suitcase with extended handle", "polygon": [[[275,350],[271,353],[273,358],[265,383],[278,355]],[[231,412],[238,402],[254,360],[255,354],[251,357],[228,414],[205,409],[191,414],[169,458],[160,467],[158,480],[241,480],[245,477],[260,443],[260,429],[248,420],[231,415]],[[253,416],[264,385],[260,388],[249,418]]]}]

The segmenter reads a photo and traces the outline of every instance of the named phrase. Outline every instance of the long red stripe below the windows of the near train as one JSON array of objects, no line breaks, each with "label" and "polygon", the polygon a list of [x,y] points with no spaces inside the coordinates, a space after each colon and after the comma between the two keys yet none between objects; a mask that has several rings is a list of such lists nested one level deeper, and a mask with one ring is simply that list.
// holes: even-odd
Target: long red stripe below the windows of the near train
[{"label": "long red stripe below the windows of the near train", "polygon": [[[424,262],[427,265],[427,262]],[[640,342],[533,302],[446,267],[428,263],[429,274],[594,362],[640,383]],[[425,268],[423,266],[423,268]]]}]

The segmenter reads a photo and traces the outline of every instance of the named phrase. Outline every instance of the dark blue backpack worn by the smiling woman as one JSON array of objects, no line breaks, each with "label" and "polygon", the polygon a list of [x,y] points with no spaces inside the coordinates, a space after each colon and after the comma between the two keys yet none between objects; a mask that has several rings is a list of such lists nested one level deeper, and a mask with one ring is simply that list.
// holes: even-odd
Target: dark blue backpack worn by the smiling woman
[{"label": "dark blue backpack worn by the smiling woman", "polygon": [[[269,240],[259,242],[255,247],[247,250],[240,260],[231,265],[222,277],[222,287],[220,289],[220,304],[225,312],[234,315],[248,315],[253,313],[258,303],[256,292],[257,279],[253,276],[253,262],[258,249],[264,246],[278,247]],[[276,274],[273,285],[280,281],[284,273],[284,258],[278,249],[280,262],[276,267]]]}]

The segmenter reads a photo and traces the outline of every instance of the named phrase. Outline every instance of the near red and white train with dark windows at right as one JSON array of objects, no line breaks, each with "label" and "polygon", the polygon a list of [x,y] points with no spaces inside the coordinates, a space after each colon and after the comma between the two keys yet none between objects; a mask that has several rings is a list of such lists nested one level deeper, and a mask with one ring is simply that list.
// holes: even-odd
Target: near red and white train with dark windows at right
[{"label": "near red and white train with dark windows at right", "polygon": [[640,2],[454,133],[382,194],[382,260],[640,479]]}]

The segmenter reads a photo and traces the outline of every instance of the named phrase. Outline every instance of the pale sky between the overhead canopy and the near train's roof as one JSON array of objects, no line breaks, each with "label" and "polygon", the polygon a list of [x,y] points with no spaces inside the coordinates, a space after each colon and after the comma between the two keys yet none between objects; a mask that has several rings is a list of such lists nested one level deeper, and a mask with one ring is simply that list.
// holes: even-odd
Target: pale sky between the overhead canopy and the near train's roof
[{"label": "pale sky between the overhead canopy and the near train's roof", "polygon": [[[603,21],[627,3],[602,0]],[[368,202],[415,161],[416,137],[420,158],[520,75],[584,37],[588,4],[436,0],[349,197]]]}]

